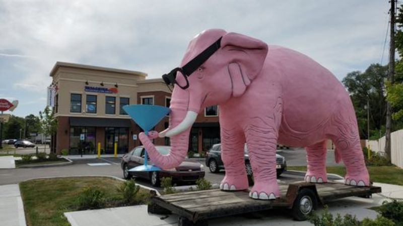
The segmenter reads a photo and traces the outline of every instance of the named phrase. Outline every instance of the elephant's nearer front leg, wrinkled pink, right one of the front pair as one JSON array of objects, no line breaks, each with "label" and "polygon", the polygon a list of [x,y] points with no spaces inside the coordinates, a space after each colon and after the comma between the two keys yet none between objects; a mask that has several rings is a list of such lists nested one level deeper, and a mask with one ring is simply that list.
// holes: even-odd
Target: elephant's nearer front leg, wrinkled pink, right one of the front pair
[{"label": "elephant's nearer front leg, wrinkled pink, right one of the front pair", "polygon": [[280,197],[276,172],[276,149],[282,106],[281,99],[278,100],[272,114],[252,118],[245,130],[254,179],[249,196],[254,199]]}]

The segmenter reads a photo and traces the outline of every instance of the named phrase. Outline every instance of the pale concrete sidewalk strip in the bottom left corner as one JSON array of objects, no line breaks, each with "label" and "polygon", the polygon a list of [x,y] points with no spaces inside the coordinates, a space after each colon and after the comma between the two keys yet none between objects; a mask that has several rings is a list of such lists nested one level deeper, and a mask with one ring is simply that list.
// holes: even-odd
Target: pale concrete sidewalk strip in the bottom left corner
[{"label": "pale concrete sidewalk strip in the bottom left corner", "polygon": [[2,226],[26,225],[18,184],[0,186],[0,224]]}]

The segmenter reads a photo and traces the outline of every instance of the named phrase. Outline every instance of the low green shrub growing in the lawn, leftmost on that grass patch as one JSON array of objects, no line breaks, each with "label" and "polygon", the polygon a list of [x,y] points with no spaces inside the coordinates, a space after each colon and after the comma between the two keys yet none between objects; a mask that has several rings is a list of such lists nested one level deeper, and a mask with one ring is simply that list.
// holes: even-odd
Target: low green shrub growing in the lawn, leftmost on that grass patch
[{"label": "low green shrub growing in the lawn, leftmost on that grass patch", "polygon": [[105,192],[96,187],[86,187],[77,196],[77,210],[98,209],[105,206]]}]

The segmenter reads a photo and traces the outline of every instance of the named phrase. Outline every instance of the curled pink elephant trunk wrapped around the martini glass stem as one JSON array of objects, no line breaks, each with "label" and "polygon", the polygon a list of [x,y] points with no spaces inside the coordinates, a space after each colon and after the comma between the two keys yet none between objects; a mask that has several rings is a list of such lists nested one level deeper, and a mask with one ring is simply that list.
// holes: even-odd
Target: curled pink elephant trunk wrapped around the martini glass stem
[{"label": "curled pink elephant trunk wrapped around the martini glass stem", "polygon": [[[176,92],[175,92],[176,91]],[[169,129],[177,127],[185,119],[187,114],[189,94],[184,90],[174,90],[171,100],[171,111],[169,117]],[[193,123],[191,123],[193,124]],[[171,151],[168,155],[160,154],[150,139],[140,136],[140,140],[145,146],[151,161],[154,165],[163,169],[172,169],[179,166],[185,159],[189,144],[189,133],[191,125],[182,132],[172,136]]]}]

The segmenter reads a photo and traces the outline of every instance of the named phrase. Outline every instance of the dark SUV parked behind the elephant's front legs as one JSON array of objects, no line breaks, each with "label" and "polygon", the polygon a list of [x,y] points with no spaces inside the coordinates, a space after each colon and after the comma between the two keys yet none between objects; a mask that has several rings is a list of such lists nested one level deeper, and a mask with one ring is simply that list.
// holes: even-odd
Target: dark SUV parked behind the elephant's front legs
[{"label": "dark SUV parked behind the elephant's front legs", "polygon": [[[252,167],[250,166],[249,163],[249,155],[248,155],[248,148],[245,144],[244,148],[245,152],[245,168],[246,168],[246,174],[252,175]],[[287,163],[286,160],[283,156],[276,154],[276,170],[277,170],[277,176],[280,176],[284,170],[287,169]],[[215,144],[213,147],[207,152],[206,155],[206,166],[209,167],[210,172],[212,173],[217,173],[220,171],[220,169],[224,169],[224,163],[223,160],[221,159],[221,144]]]}]

